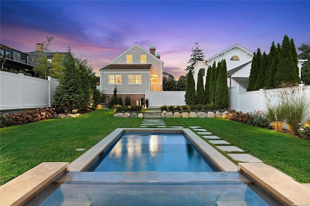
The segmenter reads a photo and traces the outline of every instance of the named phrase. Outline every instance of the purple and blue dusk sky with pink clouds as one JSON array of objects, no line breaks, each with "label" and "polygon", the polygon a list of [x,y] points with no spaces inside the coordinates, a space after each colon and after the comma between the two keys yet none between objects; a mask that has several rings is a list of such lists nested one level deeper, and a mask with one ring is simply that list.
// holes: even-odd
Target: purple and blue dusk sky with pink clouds
[{"label": "purple and blue dusk sky with pink clouds", "polygon": [[[185,75],[191,50],[205,57],[239,44],[262,53],[272,41],[310,45],[310,1],[0,1],[0,43],[22,52],[54,36],[49,49],[88,59],[93,72],[135,43],[156,52],[164,72]],[[297,51],[299,54],[300,52]]]}]

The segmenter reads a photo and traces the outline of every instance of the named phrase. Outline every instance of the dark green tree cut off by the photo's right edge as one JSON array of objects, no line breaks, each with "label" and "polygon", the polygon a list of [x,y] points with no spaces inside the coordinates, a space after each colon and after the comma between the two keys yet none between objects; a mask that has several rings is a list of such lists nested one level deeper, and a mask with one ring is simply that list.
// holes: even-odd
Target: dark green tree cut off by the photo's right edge
[{"label": "dark green tree cut off by the photo's right edge", "polygon": [[301,67],[301,81],[304,84],[310,85],[310,46],[302,44],[298,47],[298,50],[302,51],[302,53],[298,55],[299,58],[308,59],[308,61],[305,61]]}]

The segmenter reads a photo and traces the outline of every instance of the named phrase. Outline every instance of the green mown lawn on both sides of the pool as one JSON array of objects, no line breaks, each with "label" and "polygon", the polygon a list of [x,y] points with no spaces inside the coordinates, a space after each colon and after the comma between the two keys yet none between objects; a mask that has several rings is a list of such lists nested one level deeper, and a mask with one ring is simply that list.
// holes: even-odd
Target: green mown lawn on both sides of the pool
[{"label": "green mown lawn on both sides of the pool", "polygon": [[[41,162],[73,162],[116,128],[138,128],[141,118],[114,118],[103,109],[78,118],[49,119],[0,129],[0,146],[11,151],[9,170],[15,177]],[[298,182],[310,182],[310,141],[222,118],[170,118],[169,126],[201,126],[247,153],[261,159]],[[1,151],[3,153],[3,151]],[[224,152],[222,152],[224,153]],[[224,153],[225,154],[225,153]],[[237,163],[237,162],[235,162]]]}]

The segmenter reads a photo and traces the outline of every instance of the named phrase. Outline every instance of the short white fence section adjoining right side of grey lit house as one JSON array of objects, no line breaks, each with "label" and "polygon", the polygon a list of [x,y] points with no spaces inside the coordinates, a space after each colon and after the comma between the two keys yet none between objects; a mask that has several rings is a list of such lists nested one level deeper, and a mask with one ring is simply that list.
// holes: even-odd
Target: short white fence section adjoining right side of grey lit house
[{"label": "short white fence section adjoining right side of grey lit house", "polygon": [[185,91],[146,91],[145,99],[149,100],[149,107],[163,105],[185,105]]}]

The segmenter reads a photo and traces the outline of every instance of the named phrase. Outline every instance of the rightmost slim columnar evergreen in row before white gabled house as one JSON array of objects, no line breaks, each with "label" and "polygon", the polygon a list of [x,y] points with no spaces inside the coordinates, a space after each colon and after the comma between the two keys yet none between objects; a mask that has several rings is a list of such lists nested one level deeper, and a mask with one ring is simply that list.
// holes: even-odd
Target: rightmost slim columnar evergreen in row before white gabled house
[{"label": "rightmost slim columnar evergreen in row before white gabled house", "polygon": [[218,108],[224,109],[228,107],[228,103],[227,65],[226,60],[223,59],[220,62],[218,71],[215,104]]}]

